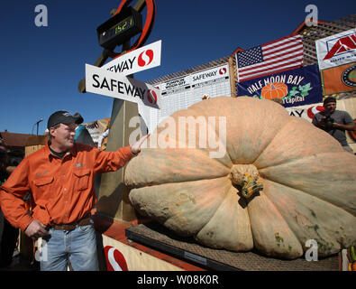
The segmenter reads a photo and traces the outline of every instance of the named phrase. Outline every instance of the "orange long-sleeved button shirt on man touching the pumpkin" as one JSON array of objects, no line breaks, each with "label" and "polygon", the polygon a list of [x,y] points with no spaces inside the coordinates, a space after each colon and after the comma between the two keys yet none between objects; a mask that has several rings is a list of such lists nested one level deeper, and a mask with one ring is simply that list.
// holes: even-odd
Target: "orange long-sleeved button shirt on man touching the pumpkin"
[{"label": "orange long-sleeved button shirt on man touching the pumpkin", "polygon": [[[132,158],[131,147],[103,152],[87,144],[74,144],[62,159],[51,154],[48,144],[23,159],[0,187],[0,205],[5,218],[24,230],[38,219],[44,225],[68,224],[96,204],[96,173],[114,172]],[[23,197],[31,191],[35,207],[32,216]]]}]

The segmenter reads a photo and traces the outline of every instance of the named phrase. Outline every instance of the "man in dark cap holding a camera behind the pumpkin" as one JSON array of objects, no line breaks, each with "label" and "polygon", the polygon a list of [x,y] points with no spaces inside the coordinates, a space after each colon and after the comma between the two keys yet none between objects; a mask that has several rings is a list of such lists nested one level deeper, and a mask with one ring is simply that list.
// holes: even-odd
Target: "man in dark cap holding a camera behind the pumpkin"
[{"label": "man in dark cap holding a camera behind the pumpkin", "polygon": [[323,129],[329,135],[342,144],[342,148],[351,154],[353,151],[347,144],[345,130],[356,131],[356,124],[347,111],[336,110],[336,98],[329,97],[324,99],[324,111],[315,114],[313,125]]}]

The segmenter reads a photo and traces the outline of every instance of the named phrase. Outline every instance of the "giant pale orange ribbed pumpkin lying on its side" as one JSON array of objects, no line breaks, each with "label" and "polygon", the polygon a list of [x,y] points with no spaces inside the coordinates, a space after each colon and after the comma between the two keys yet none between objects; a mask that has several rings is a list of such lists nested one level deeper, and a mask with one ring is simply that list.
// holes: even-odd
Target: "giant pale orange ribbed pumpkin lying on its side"
[{"label": "giant pale orange ribbed pumpkin lying on its side", "polygon": [[[179,117],[209,126],[182,137]],[[225,117],[225,131],[214,117]],[[161,126],[125,172],[141,214],[205,246],[280,258],[302,256],[309,239],[319,256],[355,244],[356,156],[333,136],[273,101],[246,97],[207,99]],[[216,145],[199,144],[214,127],[224,145],[218,158]]]}]

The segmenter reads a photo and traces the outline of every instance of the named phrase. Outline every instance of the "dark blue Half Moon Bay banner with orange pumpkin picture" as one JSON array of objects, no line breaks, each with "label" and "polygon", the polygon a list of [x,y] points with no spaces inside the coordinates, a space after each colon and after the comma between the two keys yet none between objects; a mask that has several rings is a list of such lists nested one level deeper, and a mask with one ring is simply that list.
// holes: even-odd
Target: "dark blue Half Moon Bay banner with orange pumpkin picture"
[{"label": "dark blue Half Moon Bay banner with orange pumpkin picture", "polygon": [[323,102],[317,64],[238,82],[237,96],[279,98],[283,107],[297,107]]}]

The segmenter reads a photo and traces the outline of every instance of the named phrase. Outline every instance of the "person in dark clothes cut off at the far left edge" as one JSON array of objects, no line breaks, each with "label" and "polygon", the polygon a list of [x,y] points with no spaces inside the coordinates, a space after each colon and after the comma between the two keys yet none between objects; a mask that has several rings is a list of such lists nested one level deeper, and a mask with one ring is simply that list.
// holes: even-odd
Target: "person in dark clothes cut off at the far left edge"
[{"label": "person in dark clothes cut off at the far left edge", "polygon": [[[10,166],[8,161],[8,149],[4,142],[0,141],[0,185],[14,172],[15,167]],[[0,224],[0,268],[4,268],[10,266],[13,261],[19,229],[11,226],[1,210]]]}]

